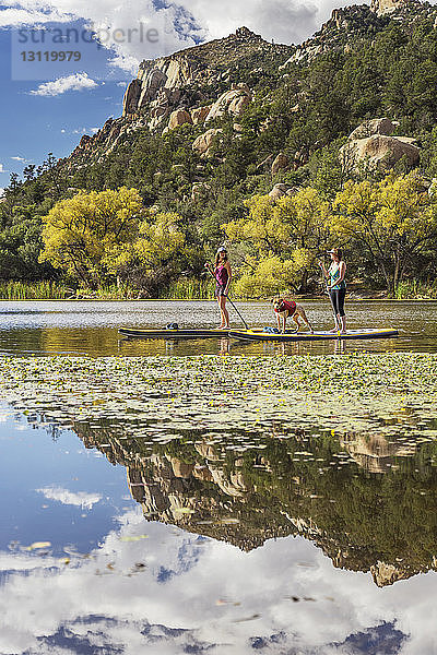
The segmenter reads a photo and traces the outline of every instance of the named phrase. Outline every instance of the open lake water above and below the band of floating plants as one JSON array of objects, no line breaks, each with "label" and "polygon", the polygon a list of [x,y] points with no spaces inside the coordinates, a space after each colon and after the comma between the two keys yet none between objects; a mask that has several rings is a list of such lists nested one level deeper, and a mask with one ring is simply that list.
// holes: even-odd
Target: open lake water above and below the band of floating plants
[{"label": "open lake water above and below the band of floating plants", "polygon": [[[330,326],[328,303],[305,307]],[[267,305],[240,310],[271,324]],[[121,325],[214,325],[208,302],[0,312],[3,355],[335,352],[118,340]],[[436,350],[437,305],[351,303],[349,315],[401,337],[347,350]],[[410,433],[391,418],[392,433],[371,437],[153,432],[141,413],[141,429],[114,414],[62,427],[62,407],[49,418],[25,405],[0,404],[1,655],[437,654],[437,419]]]}]

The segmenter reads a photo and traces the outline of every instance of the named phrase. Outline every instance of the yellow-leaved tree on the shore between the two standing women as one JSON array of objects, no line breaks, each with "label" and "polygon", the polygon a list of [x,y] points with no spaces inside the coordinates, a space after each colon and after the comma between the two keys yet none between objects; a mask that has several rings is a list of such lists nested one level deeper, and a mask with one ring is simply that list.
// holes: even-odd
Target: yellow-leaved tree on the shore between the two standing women
[{"label": "yellow-leaved tree on the shore between the two standing women", "polygon": [[305,288],[329,241],[329,203],[307,187],[275,203],[256,195],[246,206],[247,217],[222,227],[245,259],[236,291],[259,297]]}]

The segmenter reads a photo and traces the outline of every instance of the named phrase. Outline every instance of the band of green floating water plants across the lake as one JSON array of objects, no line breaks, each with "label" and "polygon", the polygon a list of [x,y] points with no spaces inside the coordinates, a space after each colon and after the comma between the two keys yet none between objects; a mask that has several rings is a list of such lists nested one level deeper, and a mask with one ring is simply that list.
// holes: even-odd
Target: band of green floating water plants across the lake
[{"label": "band of green floating water plants across the lake", "polygon": [[[437,355],[188,358],[2,358],[0,393],[15,409],[66,428],[122,420],[162,442],[180,430],[319,426],[437,437]],[[134,424],[134,425],[133,425]],[[144,432],[146,430],[146,432]]]}]

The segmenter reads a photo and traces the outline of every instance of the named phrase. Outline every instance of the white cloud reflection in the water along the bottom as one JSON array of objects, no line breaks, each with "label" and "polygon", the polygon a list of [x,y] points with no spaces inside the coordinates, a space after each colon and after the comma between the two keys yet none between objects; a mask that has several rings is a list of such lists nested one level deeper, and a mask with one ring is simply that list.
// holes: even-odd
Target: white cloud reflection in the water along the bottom
[{"label": "white cloud reflection in the water along the bottom", "polygon": [[300,537],[246,553],[138,511],[120,522],[69,564],[1,555],[2,654],[435,652],[434,572],[379,590]]}]

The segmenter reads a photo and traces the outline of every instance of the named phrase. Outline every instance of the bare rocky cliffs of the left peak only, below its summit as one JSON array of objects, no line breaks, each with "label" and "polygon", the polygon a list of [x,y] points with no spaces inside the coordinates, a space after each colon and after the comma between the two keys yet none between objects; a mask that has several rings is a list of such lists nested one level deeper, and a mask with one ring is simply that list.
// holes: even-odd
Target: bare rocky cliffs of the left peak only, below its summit
[{"label": "bare rocky cliffs of the left peak only, below its summit", "polygon": [[122,116],[109,119],[94,136],[84,135],[70,160],[82,164],[108,154],[135,130],[165,134],[167,127],[212,121],[227,110],[238,117],[252,99],[250,87],[268,79],[293,50],[240,27],[227,38],[142,61],[126,91]]}]

